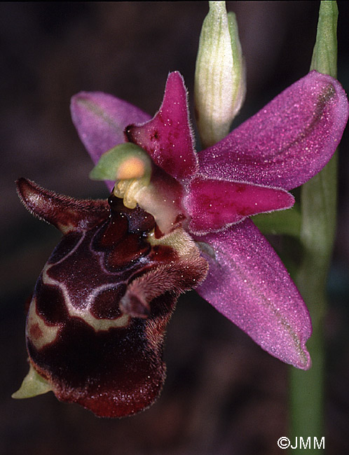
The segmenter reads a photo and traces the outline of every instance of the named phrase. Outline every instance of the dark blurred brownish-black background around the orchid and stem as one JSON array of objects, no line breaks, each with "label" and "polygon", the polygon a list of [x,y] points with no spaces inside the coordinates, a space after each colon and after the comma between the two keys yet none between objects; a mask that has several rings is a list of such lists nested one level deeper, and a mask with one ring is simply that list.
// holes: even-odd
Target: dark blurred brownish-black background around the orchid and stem
[{"label": "dark blurred brownish-black background around the orchid and stem", "polygon": [[[236,125],[308,72],[317,1],[228,2],[240,27],[247,99]],[[338,79],[349,90],[348,3],[338,2]],[[204,1],[1,3],[1,415],[4,455],[273,455],[287,435],[287,365],[189,293],[167,332],[167,381],[150,409],[97,419],[52,393],[12,400],[27,374],[24,304],[60,238],[15,195],[26,176],[74,197],[106,197],[69,115],[80,90],[155,113],[167,73],[193,93]],[[192,99],[191,99],[192,102]],[[338,237],[329,280],[326,447],[349,453],[349,141],[341,145]]]}]

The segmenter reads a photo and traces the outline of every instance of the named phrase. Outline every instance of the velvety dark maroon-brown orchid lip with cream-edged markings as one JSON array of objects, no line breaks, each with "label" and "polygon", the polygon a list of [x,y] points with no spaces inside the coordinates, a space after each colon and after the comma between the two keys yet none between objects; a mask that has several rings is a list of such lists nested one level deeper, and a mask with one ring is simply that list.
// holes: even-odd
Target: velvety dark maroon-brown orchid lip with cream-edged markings
[{"label": "velvety dark maroon-brown orchid lip with cream-edged markings", "polygon": [[31,370],[15,398],[34,395],[39,378],[43,391],[98,416],[148,407],[165,379],[163,339],[177,297],[207,274],[198,247],[180,226],[158,238],[153,216],[113,193],[74,200],[20,179],[18,194],[63,237],[29,305]]}]

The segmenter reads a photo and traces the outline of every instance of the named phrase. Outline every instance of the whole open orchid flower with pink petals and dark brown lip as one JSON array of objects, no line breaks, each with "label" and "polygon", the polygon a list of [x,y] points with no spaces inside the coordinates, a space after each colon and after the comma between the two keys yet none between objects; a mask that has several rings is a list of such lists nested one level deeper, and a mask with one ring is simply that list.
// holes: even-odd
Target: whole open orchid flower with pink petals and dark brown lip
[{"label": "whole open orchid flower with pink petals and dark brown lip", "polygon": [[191,288],[268,353],[308,369],[308,310],[249,217],[292,207],[288,190],[333,155],[348,119],[338,81],[308,73],[199,153],[178,72],[153,118],[102,92],[76,94],[71,113],[111,196],[76,201],[18,181],[27,209],[63,238],[36,283],[31,369],[15,398],[52,390],[99,416],[151,405],[165,326]]}]

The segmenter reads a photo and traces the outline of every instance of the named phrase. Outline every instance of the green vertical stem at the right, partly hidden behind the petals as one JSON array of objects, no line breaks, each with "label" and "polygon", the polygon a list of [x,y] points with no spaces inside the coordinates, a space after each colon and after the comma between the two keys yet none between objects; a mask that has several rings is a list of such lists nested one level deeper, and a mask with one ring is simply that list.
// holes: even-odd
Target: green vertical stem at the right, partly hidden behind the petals
[{"label": "green vertical stem at the right, partly hidden behind the petals", "polygon": [[[310,69],[336,77],[336,1],[320,4],[317,38]],[[303,454],[300,437],[306,442],[311,437],[307,454],[321,454],[324,449],[314,447],[314,437],[320,444],[324,437],[324,370],[325,348],[323,320],[327,311],[326,282],[336,228],[337,158],[301,188],[301,245],[303,258],[294,281],[310,311],[313,335],[308,349],[313,366],[308,371],[290,370],[291,442],[298,448],[290,454]]]}]

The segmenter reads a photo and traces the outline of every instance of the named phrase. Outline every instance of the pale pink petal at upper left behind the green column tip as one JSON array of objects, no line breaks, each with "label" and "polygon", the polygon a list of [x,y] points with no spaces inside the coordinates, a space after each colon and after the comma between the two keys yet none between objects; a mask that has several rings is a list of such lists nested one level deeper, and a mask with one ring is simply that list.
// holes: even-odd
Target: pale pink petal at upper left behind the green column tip
[{"label": "pale pink petal at upper left behind the green column tip", "polygon": [[78,135],[96,164],[102,153],[125,142],[130,123],[150,116],[128,102],[102,92],[80,92],[71,98],[71,117]]}]

